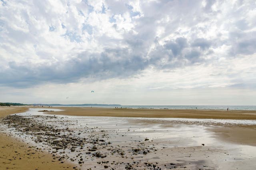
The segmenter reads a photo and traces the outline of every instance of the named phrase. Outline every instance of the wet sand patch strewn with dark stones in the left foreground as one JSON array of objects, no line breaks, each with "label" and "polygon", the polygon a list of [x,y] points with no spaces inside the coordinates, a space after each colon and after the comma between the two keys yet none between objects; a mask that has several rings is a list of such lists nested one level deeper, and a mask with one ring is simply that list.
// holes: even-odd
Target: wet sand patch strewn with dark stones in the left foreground
[{"label": "wet sand patch strewn with dark stones in the left foreground", "polygon": [[[187,166],[182,163],[161,160],[163,149],[151,139],[114,143],[110,133],[100,127],[79,125],[78,121],[70,121],[61,116],[48,115],[8,115],[2,124],[23,139],[34,143],[36,150],[49,152],[52,162],[60,164],[68,161],[76,166],[73,169],[173,169]],[[79,129],[77,128],[79,126]],[[116,130],[119,131],[119,129]],[[125,137],[125,133],[119,134]],[[111,134],[113,135],[113,133]],[[166,158],[168,154],[165,155]],[[152,161],[156,160],[156,161]],[[157,162],[157,160],[159,160]]]}]

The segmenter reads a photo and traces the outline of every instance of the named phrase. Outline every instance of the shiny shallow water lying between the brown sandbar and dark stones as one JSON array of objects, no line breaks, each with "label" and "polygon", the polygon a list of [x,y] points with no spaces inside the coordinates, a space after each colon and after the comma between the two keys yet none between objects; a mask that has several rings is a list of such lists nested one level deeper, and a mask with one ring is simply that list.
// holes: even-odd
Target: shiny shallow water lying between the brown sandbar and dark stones
[{"label": "shiny shallow water lying between the brown sandbar and dark stones", "polygon": [[[25,113],[18,113],[16,115],[25,117],[33,117],[35,115],[46,116],[43,112],[38,112],[39,110],[43,109],[31,108]],[[49,110],[60,111],[60,109]],[[204,144],[205,147],[212,152],[211,160],[204,158],[204,153],[201,153],[201,151],[194,159],[202,157],[206,159],[206,162],[211,161],[213,164],[211,167],[214,169],[236,169],[235,167],[240,166],[243,166],[243,169],[251,169],[256,166],[254,163],[256,160],[256,147],[223,142],[218,139],[214,133],[208,131],[209,127],[214,126],[256,125],[256,121],[253,120],[81,117],[48,114],[47,116],[58,118],[43,119],[43,117],[37,117],[36,119],[46,124],[54,124],[59,128],[66,128],[68,126],[69,129],[74,131],[74,135],[79,137],[88,137],[87,133],[78,135],[78,133],[84,131],[86,127],[92,128],[93,131],[95,131],[94,133],[100,133],[102,130],[106,131],[108,137],[102,137],[102,139],[111,141],[113,145],[126,146],[128,144],[141,143],[144,142],[146,138],[152,141],[158,148],[167,147],[175,149],[182,147],[202,147],[201,144]],[[61,121],[58,121],[60,119]],[[9,131],[33,144],[32,136],[21,134],[13,129],[9,129]],[[36,145],[48,149],[50,148],[50,146],[43,144]],[[69,157],[75,157],[74,152],[66,153],[70,154]],[[154,158],[157,158],[157,156]],[[184,159],[183,161],[189,160],[189,158],[185,158],[184,156],[181,156],[180,159]],[[94,159],[90,161],[92,160]],[[244,166],[244,164],[246,164],[246,166]]]}]

